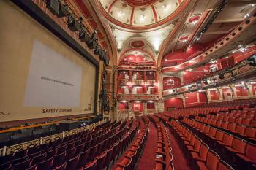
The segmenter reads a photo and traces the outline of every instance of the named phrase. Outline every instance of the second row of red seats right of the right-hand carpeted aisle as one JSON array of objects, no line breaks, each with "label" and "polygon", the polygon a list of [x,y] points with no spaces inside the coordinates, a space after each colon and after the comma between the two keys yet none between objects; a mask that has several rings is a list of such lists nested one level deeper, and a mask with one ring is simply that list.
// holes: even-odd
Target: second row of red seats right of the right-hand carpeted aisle
[{"label": "second row of red seats right of the right-hand carpeted aisle", "polygon": [[[184,123],[197,136],[200,136],[212,150],[221,155],[223,160],[233,165],[234,169],[255,169],[255,144],[195,120],[184,119]],[[191,133],[189,131],[185,131],[185,135],[190,139]]]}]

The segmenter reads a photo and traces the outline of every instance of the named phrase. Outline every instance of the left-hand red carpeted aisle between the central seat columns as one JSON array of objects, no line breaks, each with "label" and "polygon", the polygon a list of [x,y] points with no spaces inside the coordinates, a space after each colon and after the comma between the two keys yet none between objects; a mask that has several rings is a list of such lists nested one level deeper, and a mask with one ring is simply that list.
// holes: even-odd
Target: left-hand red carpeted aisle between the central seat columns
[{"label": "left-hand red carpeted aisle between the central seat columns", "polygon": [[140,163],[138,164],[137,170],[152,170],[155,169],[156,166],[154,160],[156,155],[155,152],[157,150],[157,129],[151,122],[149,122],[148,127],[148,139],[146,141],[146,145],[140,158]]}]

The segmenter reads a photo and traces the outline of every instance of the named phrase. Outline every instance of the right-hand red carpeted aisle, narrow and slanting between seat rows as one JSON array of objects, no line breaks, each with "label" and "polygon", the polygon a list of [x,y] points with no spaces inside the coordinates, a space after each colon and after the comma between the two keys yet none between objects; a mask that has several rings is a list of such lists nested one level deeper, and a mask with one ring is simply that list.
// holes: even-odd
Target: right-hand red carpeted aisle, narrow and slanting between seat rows
[{"label": "right-hand red carpeted aisle, narrow and slanting between seat rows", "polygon": [[173,134],[170,133],[169,128],[168,130],[169,139],[170,139],[170,146],[173,148],[173,166],[175,170],[191,170],[190,167],[187,165],[187,160],[184,158],[183,153],[181,152],[180,147],[178,147],[178,143],[174,139]]}]

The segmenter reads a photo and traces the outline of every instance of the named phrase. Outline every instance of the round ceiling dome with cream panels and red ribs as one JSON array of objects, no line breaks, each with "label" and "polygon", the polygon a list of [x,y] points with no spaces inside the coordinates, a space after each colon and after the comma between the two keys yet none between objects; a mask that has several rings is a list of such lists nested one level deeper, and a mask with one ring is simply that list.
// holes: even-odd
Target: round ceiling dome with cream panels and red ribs
[{"label": "round ceiling dome with cream panels and red ribs", "polygon": [[105,17],[129,29],[154,28],[167,23],[186,7],[187,0],[97,0]]}]

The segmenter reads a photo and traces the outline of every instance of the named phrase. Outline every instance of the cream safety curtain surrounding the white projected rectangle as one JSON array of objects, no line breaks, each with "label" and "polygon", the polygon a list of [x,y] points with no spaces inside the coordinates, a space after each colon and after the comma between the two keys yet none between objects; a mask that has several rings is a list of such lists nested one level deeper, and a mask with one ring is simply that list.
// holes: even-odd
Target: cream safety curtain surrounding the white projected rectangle
[{"label": "cream safety curtain surrounding the white projected rectangle", "polygon": [[[10,1],[0,1],[0,23],[0,122],[85,114],[94,111],[96,75],[93,64]],[[23,107],[31,52],[36,39],[83,68],[80,106],[71,107],[72,112],[43,114],[42,109],[60,108]],[[89,109],[90,103],[91,109]],[[85,111],[85,109],[89,110]]]}]

